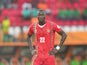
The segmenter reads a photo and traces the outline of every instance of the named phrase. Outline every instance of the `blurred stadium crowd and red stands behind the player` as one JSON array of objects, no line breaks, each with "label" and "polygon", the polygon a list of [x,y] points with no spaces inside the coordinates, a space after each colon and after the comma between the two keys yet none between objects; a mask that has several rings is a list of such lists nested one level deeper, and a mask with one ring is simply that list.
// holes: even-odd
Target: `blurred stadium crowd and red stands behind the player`
[{"label": "blurred stadium crowd and red stands behind the player", "polygon": [[[38,9],[44,9],[47,20],[52,20],[60,26],[81,25],[80,31],[87,30],[86,0],[0,0],[0,35],[3,37],[0,40],[25,41],[21,38],[26,36],[21,34],[26,33],[32,22],[37,22]],[[70,31],[69,27],[64,30]]]}]

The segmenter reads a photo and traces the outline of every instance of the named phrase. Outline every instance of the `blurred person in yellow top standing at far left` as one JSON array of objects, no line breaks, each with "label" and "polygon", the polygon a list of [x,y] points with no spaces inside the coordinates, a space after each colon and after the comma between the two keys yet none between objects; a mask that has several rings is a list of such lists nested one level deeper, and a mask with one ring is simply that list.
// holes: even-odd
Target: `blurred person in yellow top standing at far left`
[{"label": "blurred person in yellow top standing at far left", "polygon": [[6,16],[5,19],[2,21],[2,30],[3,30],[3,41],[4,42],[8,42],[10,41],[10,37],[9,37],[9,34],[8,34],[8,31],[9,31],[9,28],[10,28],[10,20],[9,18]]}]

